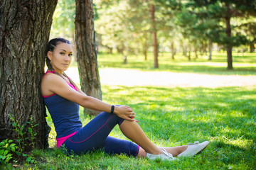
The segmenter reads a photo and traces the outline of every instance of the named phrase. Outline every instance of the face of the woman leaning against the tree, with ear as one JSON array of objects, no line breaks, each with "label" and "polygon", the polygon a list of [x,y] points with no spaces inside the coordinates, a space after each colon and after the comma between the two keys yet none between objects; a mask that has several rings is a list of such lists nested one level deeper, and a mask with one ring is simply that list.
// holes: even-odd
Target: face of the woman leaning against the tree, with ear
[{"label": "face of the woman leaning against the tree, with ear", "polygon": [[55,72],[62,74],[63,71],[68,69],[72,60],[72,47],[68,43],[61,42],[53,52],[48,51],[47,56]]}]

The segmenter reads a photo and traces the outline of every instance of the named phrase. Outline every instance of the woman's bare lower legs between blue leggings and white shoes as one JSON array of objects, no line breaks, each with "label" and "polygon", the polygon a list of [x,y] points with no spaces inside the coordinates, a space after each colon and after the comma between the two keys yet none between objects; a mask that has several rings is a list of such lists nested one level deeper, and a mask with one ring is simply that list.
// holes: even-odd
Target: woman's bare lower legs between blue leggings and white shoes
[{"label": "woman's bare lower legs between blue leggings and white shoes", "polygon": [[119,128],[126,137],[128,137],[130,140],[140,146],[138,153],[139,157],[146,157],[146,152],[150,154],[161,154],[161,148],[166,149],[167,152],[175,157],[176,155],[186,150],[186,148],[188,147],[156,147],[156,145],[154,145],[149,140],[149,138],[146,137],[146,134],[144,133],[142,128],[140,128],[138,123],[136,123],[135,121],[131,122],[128,120],[124,120],[124,122],[119,125]]}]

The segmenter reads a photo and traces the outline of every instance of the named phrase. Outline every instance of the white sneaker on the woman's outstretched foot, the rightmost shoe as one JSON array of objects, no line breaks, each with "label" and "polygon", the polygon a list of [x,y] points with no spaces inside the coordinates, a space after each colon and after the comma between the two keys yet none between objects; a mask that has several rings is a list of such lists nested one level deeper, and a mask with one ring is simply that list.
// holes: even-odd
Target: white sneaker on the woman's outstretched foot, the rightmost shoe
[{"label": "white sneaker on the woman's outstretched foot, the rightmost shoe", "polygon": [[203,149],[205,149],[208,144],[209,144],[208,141],[201,142],[201,143],[196,141],[193,144],[189,144],[188,148],[184,152],[181,152],[181,154],[178,154],[177,157],[191,157],[195,154],[198,154]]}]

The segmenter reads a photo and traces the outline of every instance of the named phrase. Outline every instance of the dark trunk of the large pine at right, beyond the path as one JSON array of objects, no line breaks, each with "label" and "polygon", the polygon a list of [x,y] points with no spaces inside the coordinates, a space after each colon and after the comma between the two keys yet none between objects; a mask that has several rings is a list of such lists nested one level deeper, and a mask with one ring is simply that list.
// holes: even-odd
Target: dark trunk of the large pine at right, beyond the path
[{"label": "dark trunk of the large pine at right, beyond the path", "polygon": [[[225,4],[228,8],[228,13],[230,13],[230,6],[228,3]],[[225,24],[226,30],[225,33],[227,34],[228,39],[231,38],[231,26],[230,26],[230,16],[225,17]],[[232,45],[228,43],[227,45],[227,55],[228,55],[228,68],[233,69],[233,61],[232,61]]]}]

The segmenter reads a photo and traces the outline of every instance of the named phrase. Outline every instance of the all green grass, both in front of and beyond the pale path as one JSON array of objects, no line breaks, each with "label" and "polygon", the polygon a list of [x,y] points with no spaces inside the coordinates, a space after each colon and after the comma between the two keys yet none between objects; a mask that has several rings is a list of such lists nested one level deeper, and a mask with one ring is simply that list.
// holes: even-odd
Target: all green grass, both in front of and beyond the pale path
[{"label": "all green grass, both in front of and beyond the pale path", "polygon": [[[167,54],[167,53],[166,53]],[[223,55],[223,54],[222,54]],[[255,55],[255,54],[254,54]],[[99,55],[99,65],[154,71],[143,57],[128,59],[123,65],[119,55]],[[214,55],[213,61],[200,58],[188,62],[177,57],[160,57],[159,71],[196,72],[202,74],[255,75],[255,56],[234,57],[233,71],[225,69],[224,55]],[[137,63],[137,64],[136,64]],[[134,64],[134,67],[133,67]],[[166,65],[164,65],[166,64]],[[199,67],[201,66],[201,67]],[[240,87],[159,87],[159,86],[102,86],[103,101],[131,106],[146,135],[158,146],[174,147],[199,140],[210,145],[195,157],[175,162],[135,159],[125,155],[109,155],[101,151],[67,156],[55,149],[52,128],[48,150],[34,150],[36,164],[18,165],[19,169],[256,169],[256,86]],[[83,125],[92,117],[82,114]],[[118,127],[114,137],[127,140]],[[1,166],[0,166],[1,169]],[[4,169],[14,169],[5,166]]]}]

